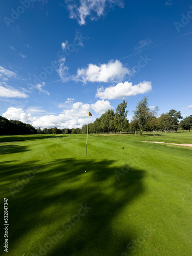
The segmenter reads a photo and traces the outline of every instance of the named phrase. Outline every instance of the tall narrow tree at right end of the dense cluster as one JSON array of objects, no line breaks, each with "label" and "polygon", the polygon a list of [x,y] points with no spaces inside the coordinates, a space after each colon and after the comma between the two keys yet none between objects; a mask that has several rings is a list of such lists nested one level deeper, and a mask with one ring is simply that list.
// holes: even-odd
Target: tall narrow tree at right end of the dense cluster
[{"label": "tall narrow tree at right end of the dense cluster", "polygon": [[115,128],[120,131],[120,134],[123,130],[123,125],[126,119],[126,115],[128,113],[128,111],[126,109],[126,105],[127,102],[125,102],[125,100],[123,100],[122,103],[120,103],[117,108],[116,108],[116,113],[115,113],[115,118],[114,118],[114,125]]}]

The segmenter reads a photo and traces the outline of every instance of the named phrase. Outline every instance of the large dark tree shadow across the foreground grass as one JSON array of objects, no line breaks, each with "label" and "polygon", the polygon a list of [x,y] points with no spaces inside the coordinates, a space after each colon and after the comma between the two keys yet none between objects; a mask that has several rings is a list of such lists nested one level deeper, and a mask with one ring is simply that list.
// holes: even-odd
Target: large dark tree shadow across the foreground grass
[{"label": "large dark tree shadow across the foreground grass", "polygon": [[[42,255],[42,247],[50,256],[131,253],[126,245],[137,234],[129,230],[127,206],[144,191],[144,170],[121,169],[123,166],[114,167],[115,161],[109,160],[69,158],[37,164],[3,163],[7,172],[2,181],[9,182],[3,191],[9,198],[11,255]],[[116,170],[122,174],[119,180]],[[27,173],[31,178],[24,178]],[[15,188],[14,197],[10,188]],[[86,204],[90,208],[84,211],[82,205]],[[51,243],[57,231],[62,238]]]}]

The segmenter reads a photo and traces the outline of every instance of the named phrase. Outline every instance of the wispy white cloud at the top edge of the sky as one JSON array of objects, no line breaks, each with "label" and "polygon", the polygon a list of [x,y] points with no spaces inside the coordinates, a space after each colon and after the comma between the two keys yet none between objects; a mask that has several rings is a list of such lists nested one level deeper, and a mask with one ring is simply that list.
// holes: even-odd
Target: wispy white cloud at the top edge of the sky
[{"label": "wispy white cloud at the top edge of the sky", "polygon": [[74,1],[66,0],[67,8],[70,11],[70,18],[77,19],[79,25],[86,24],[86,17],[89,16],[91,20],[96,20],[104,16],[106,9],[119,6],[123,8],[123,1],[121,0],[80,0],[79,4]]}]

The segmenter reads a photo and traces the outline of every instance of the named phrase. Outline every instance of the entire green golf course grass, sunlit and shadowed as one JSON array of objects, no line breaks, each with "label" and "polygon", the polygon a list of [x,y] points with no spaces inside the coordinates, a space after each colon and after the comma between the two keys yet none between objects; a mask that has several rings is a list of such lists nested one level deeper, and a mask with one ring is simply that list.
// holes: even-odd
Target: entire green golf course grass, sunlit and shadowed
[{"label": "entire green golf course grass, sunlit and shadowed", "polygon": [[192,133],[0,141],[1,255],[192,255]]}]

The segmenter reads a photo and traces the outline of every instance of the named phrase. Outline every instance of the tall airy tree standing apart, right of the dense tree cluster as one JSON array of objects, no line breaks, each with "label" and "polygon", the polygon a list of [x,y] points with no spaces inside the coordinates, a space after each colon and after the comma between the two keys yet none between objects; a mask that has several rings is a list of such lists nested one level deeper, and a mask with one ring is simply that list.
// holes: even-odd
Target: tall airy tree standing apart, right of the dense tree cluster
[{"label": "tall airy tree standing apart, right of the dense tree cluster", "polygon": [[134,111],[134,119],[137,120],[139,124],[139,132],[142,137],[142,133],[144,130],[144,125],[147,122],[148,114],[149,114],[149,108],[148,108],[148,102],[147,97],[143,97],[142,100],[140,100],[136,106],[136,110]]}]

